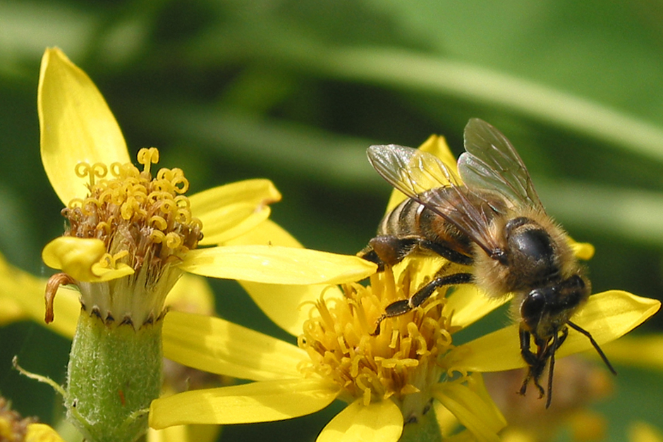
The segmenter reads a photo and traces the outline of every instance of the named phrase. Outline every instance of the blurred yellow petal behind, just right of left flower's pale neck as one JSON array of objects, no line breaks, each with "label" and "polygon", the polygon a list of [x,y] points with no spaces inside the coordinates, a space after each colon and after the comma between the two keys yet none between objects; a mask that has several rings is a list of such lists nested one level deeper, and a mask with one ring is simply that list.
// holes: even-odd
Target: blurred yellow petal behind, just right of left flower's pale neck
[{"label": "blurred yellow petal behind, just right of left flower's pale neck", "polygon": [[176,312],[213,316],[214,292],[202,276],[183,274],[168,293],[166,307]]}]

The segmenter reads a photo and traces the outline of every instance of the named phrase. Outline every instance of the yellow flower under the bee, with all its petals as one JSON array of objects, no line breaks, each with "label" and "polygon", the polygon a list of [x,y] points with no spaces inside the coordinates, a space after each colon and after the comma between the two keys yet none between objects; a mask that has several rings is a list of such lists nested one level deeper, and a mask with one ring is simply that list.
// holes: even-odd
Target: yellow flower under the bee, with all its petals
[{"label": "yellow flower under the bee, with all its petals", "polygon": [[[437,137],[423,148],[450,157]],[[394,193],[389,209],[402,198]],[[252,233],[236,239],[253,240]],[[590,245],[573,244],[573,249],[583,257],[593,251]],[[370,286],[315,286],[306,295],[281,290],[271,304],[264,299],[272,287],[245,286],[254,299],[263,300],[261,307],[269,317],[298,336],[298,346],[222,319],[169,314],[164,323],[167,357],[256,382],[154,400],[150,426],[290,419],[341,399],[348,407],[325,426],[318,441],[396,441],[404,424],[430,419],[426,412],[431,406],[441,428],[451,412],[474,438],[497,441],[504,419],[480,376],[468,373],[524,367],[517,326],[460,346],[451,336],[506,300],[488,300],[474,286],[461,286],[448,296],[439,293],[413,312],[387,319],[379,335],[372,336],[384,307],[409,297],[439,265],[406,258],[393,272],[371,276]],[[633,329],[658,307],[658,301],[612,291],[590,297],[573,321],[591,330],[601,344]],[[559,357],[591,348],[585,336],[571,331]]]}]

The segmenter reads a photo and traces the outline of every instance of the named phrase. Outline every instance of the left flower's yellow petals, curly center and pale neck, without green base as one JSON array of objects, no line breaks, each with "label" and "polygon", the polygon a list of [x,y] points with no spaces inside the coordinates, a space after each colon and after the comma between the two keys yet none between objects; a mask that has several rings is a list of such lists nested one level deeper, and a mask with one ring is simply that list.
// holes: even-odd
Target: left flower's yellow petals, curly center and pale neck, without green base
[{"label": "left flower's yellow petals, curly center and pale neck, without green base", "polygon": [[[185,197],[180,169],[152,177],[154,148],[141,149],[139,170],[99,90],[59,49],[42,59],[38,111],[42,162],[70,225],[42,252],[47,265],[63,271],[47,289],[47,321],[62,284],[78,286],[90,314],[140,326],[162,315],[165,295],[185,271],[308,284],[352,281],[373,270],[360,259],[270,245],[193,250],[255,228],[281,195],[269,180],[246,180]],[[274,266],[292,271],[269,271]]]}]

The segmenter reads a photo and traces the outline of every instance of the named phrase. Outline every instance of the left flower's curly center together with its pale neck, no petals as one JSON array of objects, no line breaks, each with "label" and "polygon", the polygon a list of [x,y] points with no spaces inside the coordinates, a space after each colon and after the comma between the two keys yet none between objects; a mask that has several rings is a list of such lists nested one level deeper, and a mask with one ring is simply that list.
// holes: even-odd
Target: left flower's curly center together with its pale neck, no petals
[{"label": "left flower's curly center together with its pale neck, no petals", "polygon": [[[89,195],[63,209],[64,236],[102,240],[106,254],[92,271],[128,266],[133,273],[106,282],[75,281],[83,309],[107,323],[140,326],[159,319],[164,300],[182,271],[177,264],[202,239],[202,223],[183,194],[189,183],[179,168],[161,168],[159,151],[140,149],[133,164],[79,163],[75,173],[89,180]],[[57,276],[57,275],[56,275]],[[54,276],[55,277],[55,276]]]}]

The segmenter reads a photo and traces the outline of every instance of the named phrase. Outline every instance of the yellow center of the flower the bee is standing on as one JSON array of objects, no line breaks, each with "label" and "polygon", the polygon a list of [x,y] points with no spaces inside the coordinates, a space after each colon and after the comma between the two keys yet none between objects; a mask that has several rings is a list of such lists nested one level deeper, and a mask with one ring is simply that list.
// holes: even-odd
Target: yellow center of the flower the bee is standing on
[{"label": "yellow center of the flower the bee is standing on", "polygon": [[446,371],[439,362],[456,331],[442,315],[446,299],[439,294],[408,314],[388,318],[379,335],[371,336],[384,307],[407,299],[425,282],[421,274],[409,262],[397,280],[386,269],[371,277],[370,286],[354,283],[343,287],[344,297],[321,297],[298,339],[311,359],[302,372],[336,382],[348,402],[391,399],[406,422],[422,415],[430,406],[430,388]]}]

